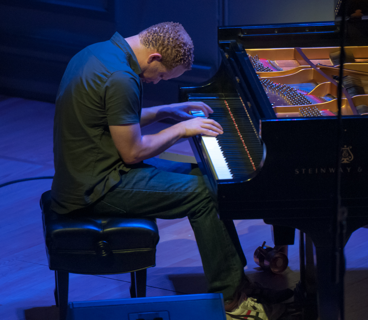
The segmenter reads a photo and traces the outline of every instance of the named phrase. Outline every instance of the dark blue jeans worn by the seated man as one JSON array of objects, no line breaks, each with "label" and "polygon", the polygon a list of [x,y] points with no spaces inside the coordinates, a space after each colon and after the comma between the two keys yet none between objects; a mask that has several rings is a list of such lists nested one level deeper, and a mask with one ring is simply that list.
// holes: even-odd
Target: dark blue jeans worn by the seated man
[{"label": "dark blue jeans worn by the seated man", "polygon": [[[160,159],[156,160],[159,163]],[[241,260],[202,176],[167,172],[146,163],[135,164],[122,175],[117,187],[95,204],[94,210],[127,218],[188,216],[208,291],[222,292],[224,301],[229,301],[245,279]]]}]

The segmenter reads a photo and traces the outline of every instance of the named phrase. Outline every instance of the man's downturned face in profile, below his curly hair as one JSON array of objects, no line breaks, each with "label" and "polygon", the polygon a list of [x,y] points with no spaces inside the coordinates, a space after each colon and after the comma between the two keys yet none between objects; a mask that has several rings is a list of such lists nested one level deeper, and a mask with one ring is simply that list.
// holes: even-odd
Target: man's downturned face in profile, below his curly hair
[{"label": "man's downturned face in profile, below his curly hair", "polygon": [[186,71],[185,67],[180,65],[172,70],[167,70],[161,62],[154,61],[145,68],[142,68],[142,73],[139,77],[143,82],[154,84],[158,83],[161,79],[169,80],[181,76]]}]

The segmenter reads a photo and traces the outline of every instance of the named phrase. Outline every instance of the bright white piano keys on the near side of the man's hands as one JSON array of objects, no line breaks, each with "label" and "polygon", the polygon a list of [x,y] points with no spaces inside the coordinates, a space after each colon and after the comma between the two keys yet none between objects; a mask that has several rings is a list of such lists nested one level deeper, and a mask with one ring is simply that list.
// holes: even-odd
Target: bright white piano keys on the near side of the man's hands
[{"label": "bright white piano keys on the near side of the man's hands", "polygon": [[217,174],[219,180],[233,179],[227,161],[220,149],[219,142],[215,137],[203,136],[202,145],[205,146],[209,158],[212,162],[213,169]]}]

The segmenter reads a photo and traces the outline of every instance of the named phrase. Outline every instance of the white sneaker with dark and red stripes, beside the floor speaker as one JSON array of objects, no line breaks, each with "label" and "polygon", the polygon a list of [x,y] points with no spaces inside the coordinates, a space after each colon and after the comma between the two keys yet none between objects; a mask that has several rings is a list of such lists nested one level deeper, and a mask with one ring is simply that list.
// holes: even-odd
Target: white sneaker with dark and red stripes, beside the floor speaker
[{"label": "white sneaker with dark and red stripes, beside the floor speaker", "polygon": [[226,312],[226,320],[233,319],[269,320],[261,303],[257,303],[257,300],[253,298],[240,300],[238,307],[231,310],[231,312]]}]

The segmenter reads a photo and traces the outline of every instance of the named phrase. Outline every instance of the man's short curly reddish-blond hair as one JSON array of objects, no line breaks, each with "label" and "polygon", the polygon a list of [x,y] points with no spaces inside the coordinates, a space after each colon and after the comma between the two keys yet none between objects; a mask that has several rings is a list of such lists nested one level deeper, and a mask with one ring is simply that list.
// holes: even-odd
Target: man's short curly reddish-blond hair
[{"label": "man's short curly reddish-blond hair", "polygon": [[180,23],[162,22],[139,32],[139,40],[146,48],[162,55],[167,70],[179,65],[190,70],[193,64],[193,42]]}]

